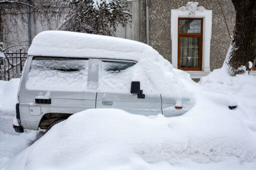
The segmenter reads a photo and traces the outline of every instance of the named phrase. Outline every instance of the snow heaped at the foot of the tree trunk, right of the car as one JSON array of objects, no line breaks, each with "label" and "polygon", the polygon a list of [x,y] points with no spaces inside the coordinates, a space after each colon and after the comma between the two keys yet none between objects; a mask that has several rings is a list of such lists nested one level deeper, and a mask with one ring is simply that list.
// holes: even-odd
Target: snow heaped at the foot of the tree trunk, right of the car
[{"label": "snow heaped at the foot of the tree trunk, right of the car", "polygon": [[205,89],[226,94],[237,101],[235,116],[252,131],[256,131],[256,76],[237,74],[232,77],[223,67],[202,77],[199,83]]}]

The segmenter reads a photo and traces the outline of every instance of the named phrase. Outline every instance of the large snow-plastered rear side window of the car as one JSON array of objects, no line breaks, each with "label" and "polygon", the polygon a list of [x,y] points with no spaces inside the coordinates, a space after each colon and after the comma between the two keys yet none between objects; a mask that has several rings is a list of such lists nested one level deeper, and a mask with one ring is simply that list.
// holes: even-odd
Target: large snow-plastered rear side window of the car
[{"label": "large snow-plastered rear side window of the car", "polygon": [[26,88],[34,90],[85,91],[88,58],[38,57],[32,59]]}]

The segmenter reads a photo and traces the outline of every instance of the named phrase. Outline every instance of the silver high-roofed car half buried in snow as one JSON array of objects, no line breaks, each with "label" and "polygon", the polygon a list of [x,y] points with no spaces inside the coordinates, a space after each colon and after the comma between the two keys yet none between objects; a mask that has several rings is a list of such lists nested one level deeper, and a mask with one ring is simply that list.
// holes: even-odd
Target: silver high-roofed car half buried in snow
[{"label": "silver high-roofed car half buried in snow", "polygon": [[[47,129],[88,108],[177,116],[183,84],[151,46],[117,37],[44,31],[28,50],[16,105],[17,132]],[[180,110],[178,110],[180,109]]]}]

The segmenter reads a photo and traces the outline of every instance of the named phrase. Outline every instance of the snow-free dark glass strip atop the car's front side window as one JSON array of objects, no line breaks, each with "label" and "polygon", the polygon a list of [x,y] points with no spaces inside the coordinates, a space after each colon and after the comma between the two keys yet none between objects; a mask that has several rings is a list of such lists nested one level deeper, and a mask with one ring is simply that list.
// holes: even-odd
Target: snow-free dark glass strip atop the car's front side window
[{"label": "snow-free dark glass strip atop the car's front side window", "polygon": [[133,66],[134,64],[134,62],[103,61],[102,66],[106,71],[119,72]]}]

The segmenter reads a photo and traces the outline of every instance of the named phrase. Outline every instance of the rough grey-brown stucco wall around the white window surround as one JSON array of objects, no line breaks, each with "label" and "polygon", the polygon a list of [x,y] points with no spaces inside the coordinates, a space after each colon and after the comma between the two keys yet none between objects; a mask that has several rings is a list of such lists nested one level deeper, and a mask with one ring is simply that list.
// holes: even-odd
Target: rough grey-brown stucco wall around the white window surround
[{"label": "rough grey-brown stucco wall around the white window surround", "polygon": [[[140,40],[146,42],[146,0],[141,0]],[[186,5],[190,0],[149,0],[149,43],[171,61],[171,9]],[[211,70],[219,68],[225,59],[230,36],[218,0],[197,0],[198,6],[212,10],[212,38],[210,50]],[[230,34],[233,32],[235,10],[231,0],[219,0]]]}]

